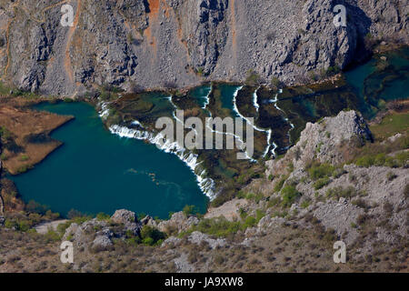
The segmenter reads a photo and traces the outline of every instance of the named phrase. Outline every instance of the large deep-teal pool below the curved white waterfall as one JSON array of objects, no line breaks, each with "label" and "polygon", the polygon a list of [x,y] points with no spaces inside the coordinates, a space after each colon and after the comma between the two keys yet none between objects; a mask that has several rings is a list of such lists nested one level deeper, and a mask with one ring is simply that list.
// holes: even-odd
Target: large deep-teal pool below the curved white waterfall
[{"label": "large deep-teal pool below the curved white waterfall", "polygon": [[36,109],[75,115],[75,120],[52,134],[64,146],[35,169],[13,177],[25,201],[35,200],[62,215],[71,209],[112,214],[126,208],[166,218],[185,205],[205,211],[207,197],[177,156],[112,135],[91,105],[43,104]]}]

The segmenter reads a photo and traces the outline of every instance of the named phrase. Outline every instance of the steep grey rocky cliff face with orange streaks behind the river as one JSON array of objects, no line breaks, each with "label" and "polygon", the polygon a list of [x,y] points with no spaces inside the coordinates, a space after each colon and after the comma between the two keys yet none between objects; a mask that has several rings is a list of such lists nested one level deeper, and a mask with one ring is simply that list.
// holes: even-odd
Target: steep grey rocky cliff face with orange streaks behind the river
[{"label": "steep grey rocky cliff face with orange streaks behind the river", "polygon": [[[254,69],[293,84],[344,68],[365,35],[407,42],[408,1],[0,1],[2,81],[28,91],[85,95],[95,85],[184,87],[244,81]],[[335,27],[334,5],[347,9]]]}]

